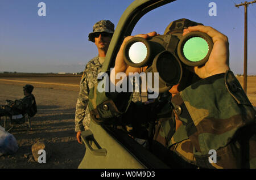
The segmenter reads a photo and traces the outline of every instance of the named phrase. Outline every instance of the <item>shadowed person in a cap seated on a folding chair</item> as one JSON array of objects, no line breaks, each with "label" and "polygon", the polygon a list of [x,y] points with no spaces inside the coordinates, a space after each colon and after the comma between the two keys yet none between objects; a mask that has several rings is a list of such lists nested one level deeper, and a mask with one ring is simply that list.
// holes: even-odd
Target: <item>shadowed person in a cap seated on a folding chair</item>
[{"label": "shadowed person in a cap seated on a folding chair", "polygon": [[0,109],[0,117],[2,116],[9,116],[18,115],[18,114],[28,114],[31,117],[35,115],[37,112],[36,109],[36,101],[34,95],[32,95],[34,87],[30,84],[26,84],[23,87],[24,96],[20,100],[7,100],[7,105],[2,105]]}]

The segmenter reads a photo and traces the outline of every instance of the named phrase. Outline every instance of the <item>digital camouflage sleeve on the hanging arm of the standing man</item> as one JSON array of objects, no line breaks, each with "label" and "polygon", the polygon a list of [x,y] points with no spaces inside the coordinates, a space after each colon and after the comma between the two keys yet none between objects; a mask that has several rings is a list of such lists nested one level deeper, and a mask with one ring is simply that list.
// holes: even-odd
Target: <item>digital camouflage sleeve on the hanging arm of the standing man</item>
[{"label": "digital camouflage sleeve on the hanging arm of the standing man", "polygon": [[82,75],[81,82],[80,82],[80,92],[77,98],[76,103],[76,116],[75,116],[75,131],[84,131],[84,125],[82,124],[86,108],[88,105],[88,95],[89,95],[89,87],[88,87],[88,78],[86,76],[86,68],[84,74]]}]

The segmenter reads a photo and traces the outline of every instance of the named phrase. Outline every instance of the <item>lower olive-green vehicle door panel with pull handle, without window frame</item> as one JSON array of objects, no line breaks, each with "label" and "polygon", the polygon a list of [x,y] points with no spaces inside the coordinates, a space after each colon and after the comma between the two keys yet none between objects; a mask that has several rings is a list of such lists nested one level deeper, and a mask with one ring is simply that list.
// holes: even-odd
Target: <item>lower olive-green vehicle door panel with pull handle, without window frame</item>
[{"label": "lower olive-green vehicle door panel with pull handle, without window frame", "polygon": [[168,168],[142,145],[116,128],[92,123],[90,130],[83,131],[81,136],[86,150],[79,168]]}]

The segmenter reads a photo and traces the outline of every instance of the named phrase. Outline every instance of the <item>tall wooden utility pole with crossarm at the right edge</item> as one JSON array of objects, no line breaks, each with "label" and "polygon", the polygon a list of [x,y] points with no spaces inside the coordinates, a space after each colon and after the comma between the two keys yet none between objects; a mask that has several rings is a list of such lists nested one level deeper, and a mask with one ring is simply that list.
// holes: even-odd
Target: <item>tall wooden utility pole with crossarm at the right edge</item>
[{"label": "tall wooden utility pole with crossarm at the right edge", "polygon": [[235,5],[236,7],[245,6],[245,48],[244,48],[244,55],[243,55],[243,90],[245,93],[247,92],[247,6],[256,1],[241,3],[240,5]]}]

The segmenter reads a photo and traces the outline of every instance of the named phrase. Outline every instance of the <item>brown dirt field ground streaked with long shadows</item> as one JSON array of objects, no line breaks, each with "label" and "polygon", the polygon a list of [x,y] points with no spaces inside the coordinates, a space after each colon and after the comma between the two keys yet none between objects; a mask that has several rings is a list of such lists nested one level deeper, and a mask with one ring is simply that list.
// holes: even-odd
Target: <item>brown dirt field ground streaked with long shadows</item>
[{"label": "brown dirt field ground streaked with long shadows", "polygon": [[[242,84],[242,77],[238,77]],[[35,89],[38,113],[32,118],[32,131],[18,125],[13,134],[19,150],[14,155],[0,157],[0,168],[77,168],[84,157],[85,147],[76,141],[75,108],[80,77],[55,78],[0,78],[0,105],[6,99],[23,97],[22,86],[32,84]],[[247,96],[256,109],[256,76],[249,77]],[[3,118],[0,123],[3,123]],[[31,145],[44,140],[52,149],[46,164],[28,161]]]}]

